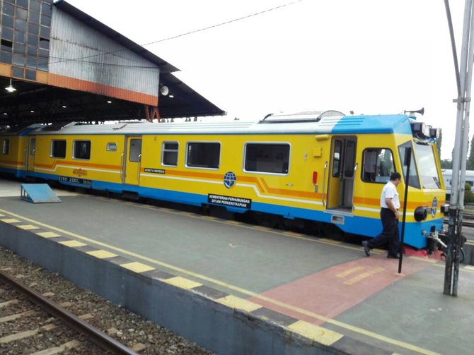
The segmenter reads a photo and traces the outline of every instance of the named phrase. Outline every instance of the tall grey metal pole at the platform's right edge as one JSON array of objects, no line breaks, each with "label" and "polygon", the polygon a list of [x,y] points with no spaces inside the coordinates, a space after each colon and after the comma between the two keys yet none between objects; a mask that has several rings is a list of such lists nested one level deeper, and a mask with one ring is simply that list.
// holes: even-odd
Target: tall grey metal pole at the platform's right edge
[{"label": "tall grey metal pole at the platform's right edge", "polygon": [[[449,10],[449,0],[444,0],[446,15],[448,17],[449,30],[451,35],[451,47],[453,49],[454,66],[456,70],[456,83],[458,97],[456,115],[456,140],[453,150],[453,176],[451,184],[451,201],[449,205],[449,228],[448,247],[446,248],[446,267],[444,270],[444,294],[457,296],[459,254],[461,252],[461,224],[462,210],[464,208],[464,186],[466,176],[466,155],[468,152],[468,131],[469,128],[469,104],[470,83],[473,67],[473,47],[474,47],[474,13],[473,1],[466,0],[464,7],[463,41],[461,47],[461,68],[458,68],[456,54],[456,44],[453,37],[451,22],[451,11]],[[465,109],[467,107],[467,110]],[[464,134],[463,134],[463,129]],[[461,179],[460,179],[461,176]],[[461,180],[461,181],[460,181]],[[461,213],[460,213],[461,210]]]}]

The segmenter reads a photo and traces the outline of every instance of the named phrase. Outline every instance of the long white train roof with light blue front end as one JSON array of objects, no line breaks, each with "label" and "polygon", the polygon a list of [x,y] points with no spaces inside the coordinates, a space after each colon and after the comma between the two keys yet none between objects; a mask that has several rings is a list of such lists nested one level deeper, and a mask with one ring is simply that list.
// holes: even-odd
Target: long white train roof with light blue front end
[{"label": "long white train roof with light blue front end", "polygon": [[[81,124],[72,122],[42,126],[32,134],[370,134],[399,133],[414,135],[420,140],[432,140],[431,132],[420,130],[405,114],[345,116],[336,111],[311,112],[294,115],[272,115],[257,122],[173,122],[173,123],[118,123],[118,124]],[[267,124],[269,120],[279,124]],[[417,123],[417,122],[416,122]],[[422,126],[423,127],[423,126]]]}]

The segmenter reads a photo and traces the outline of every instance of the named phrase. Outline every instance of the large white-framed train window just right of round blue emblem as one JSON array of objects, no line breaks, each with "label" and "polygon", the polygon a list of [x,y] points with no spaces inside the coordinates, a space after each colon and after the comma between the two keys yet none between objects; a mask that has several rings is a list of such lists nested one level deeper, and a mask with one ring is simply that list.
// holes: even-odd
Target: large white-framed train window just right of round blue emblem
[{"label": "large white-framed train window just right of round blue emblem", "polygon": [[[253,156],[249,157],[252,153],[253,148],[258,150],[253,152]],[[249,149],[250,148],[250,149]],[[284,148],[283,152],[279,152],[277,148]],[[265,150],[264,150],[265,149]],[[258,158],[265,153],[271,153],[270,159],[266,160],[265,163],[273,164],[272,169],[259,169]],[[282,153],[282,159],[278,159],[280,165],[277,168],[277,157],[275,153]],[[289,160],[291,157],[291,144],[288,142],[246,142],[243,148],[243,171],[255,174],[274,174],[274,175],[288,175],[289,174]],[[262,162],[260,162],[262,163]],[[255,165],[255,167],[253,167]],[[267,165],[268,166],[268,165]],[[271,165],[270,165],[271,166]]]}]

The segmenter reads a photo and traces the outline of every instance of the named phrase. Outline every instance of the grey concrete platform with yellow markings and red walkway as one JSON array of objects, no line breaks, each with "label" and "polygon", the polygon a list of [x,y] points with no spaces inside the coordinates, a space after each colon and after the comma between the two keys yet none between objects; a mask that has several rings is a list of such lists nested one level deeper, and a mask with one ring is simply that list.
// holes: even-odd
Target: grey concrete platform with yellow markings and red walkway
[{"label": "grey concrete platform with yellow markings and red walkway", "polygon": [[[4,191],[0,181],[0,195]],[[110,200],[0,197],[0,244],[219,354],[471,354],[474,267]],[[61,195],[61,193],[58,193]]]}]

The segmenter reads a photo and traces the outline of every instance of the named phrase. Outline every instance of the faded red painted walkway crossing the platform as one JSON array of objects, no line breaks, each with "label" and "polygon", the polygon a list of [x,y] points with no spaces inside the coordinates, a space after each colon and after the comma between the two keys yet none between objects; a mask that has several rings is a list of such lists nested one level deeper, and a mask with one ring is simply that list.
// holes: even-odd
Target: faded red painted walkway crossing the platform
[{"label": "faded red painted walkway crossing the platform", "polygon": [[[403,272],[398,274],[398,259],[388,259],[385,254],[372,255],[370,258],[330,267],[261,295],[311,313],[334,318],[381,289],[428,265],[429,263],[421,260],[404,258]],[[258,297],[253,297],[250,301],[309,323],[324,323],[311,315],[277,306]]]}]

